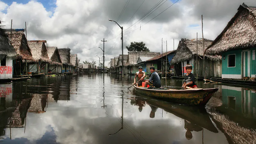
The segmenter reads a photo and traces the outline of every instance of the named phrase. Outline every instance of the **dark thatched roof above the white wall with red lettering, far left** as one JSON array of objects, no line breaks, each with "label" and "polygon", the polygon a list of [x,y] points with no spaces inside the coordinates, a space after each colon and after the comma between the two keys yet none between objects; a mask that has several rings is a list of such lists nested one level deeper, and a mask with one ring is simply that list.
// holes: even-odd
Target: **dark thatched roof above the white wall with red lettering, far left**
[{"label": "dark thatched roof above the white wall with red lettering, far left", "polygon": [[9,43],[8,35],[5,34],[4,29],[0,28],[0,60],[5,56],[15,58],[17,55],[15,49]]}]

